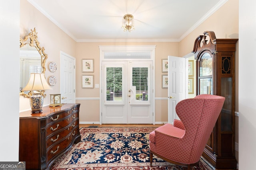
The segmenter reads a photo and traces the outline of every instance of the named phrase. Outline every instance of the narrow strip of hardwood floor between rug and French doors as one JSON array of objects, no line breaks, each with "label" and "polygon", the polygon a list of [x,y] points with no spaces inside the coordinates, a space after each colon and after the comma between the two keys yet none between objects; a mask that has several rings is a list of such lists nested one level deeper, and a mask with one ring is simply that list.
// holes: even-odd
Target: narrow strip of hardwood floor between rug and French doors
[{"label": "narrow strip of hardwood floor between rug and French doors", "polygon": [[[102,124],[102,125],[86,124],[86,125],[84,125],[84,124],[80,124],[79,128],[89,127],[89,126],[98,126],[98,127],[160,127],[162,125],[152,125],[152,124]],[[234,170],[234,169],[216,169],[216,170]]]}]

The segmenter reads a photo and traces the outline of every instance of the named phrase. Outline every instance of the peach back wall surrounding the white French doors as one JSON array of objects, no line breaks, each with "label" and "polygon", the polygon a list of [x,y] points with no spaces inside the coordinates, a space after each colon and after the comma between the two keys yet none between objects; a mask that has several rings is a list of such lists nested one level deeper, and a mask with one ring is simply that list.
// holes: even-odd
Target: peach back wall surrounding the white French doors
[{"label": "peach back wall surrounding the white French doors", "polygon": [[[100,89],[81,88],[82,75],[94,75],[94,84],[100,84],[100,49],[99,45],[156,45],[155,49],[155,97],[168,97],[167,89],[162,88],[162,59],[167,59],[168,55],[179,56],[178,42],[152,42],[152,43],[77,43],[76,51],[76,98],[80,106],[80,122],[100,121]],[[82,72],[82,59],[94,59],[94,72]],[[81,99],[82,98],[82,99]],[[90,99],[91,98],[91,99]],[[95,99],[96,98],[96,99]],[[163,102],[163,103],[161,103]],[[160,103],[160,104],[159,104]],[[156,122],[168,121],[167,100],[157,100],[155,109]]]}]

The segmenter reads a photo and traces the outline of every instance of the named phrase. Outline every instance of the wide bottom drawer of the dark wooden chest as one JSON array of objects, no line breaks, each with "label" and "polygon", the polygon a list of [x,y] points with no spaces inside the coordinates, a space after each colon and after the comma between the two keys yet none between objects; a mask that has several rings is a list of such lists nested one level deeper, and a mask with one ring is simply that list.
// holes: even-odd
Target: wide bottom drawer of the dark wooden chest
[{"label": "wide bottom drawer of the dark wooden chest", "polygon": [[64,141],[62,141],[62,142],[58,143],[57,145],[54,145],[54,146],[50,147],[48,150],[46,150],[46,153],[47,153],[46,162],[51,160],[54,156],[57,156],[60,152],[62,152],[69,145],[71,145],[71,141],[72,141],[71,136],[68,136]]}]

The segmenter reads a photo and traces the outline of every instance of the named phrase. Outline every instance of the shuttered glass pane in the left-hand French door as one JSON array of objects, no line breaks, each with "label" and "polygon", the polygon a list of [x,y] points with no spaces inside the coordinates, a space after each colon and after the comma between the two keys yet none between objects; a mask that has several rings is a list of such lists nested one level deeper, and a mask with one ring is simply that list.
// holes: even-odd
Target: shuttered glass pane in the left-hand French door
[{"label": "shuttered glass pane in the left-hand French door", "polygon": [[106,100],[122,101],[122,67],[106,68]]}]

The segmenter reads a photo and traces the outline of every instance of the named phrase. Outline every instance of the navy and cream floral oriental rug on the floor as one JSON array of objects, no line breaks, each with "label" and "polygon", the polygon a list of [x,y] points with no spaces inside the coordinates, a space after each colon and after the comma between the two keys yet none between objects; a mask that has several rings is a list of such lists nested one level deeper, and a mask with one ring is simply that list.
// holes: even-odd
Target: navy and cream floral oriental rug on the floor
[{"label": "navy and cream floral oriental rug on the floor", "polygon": [[[52,170],[186,170],[154,155],[149,161],[149,133],[156,127],[80,129],[81,142],[58,158]],[[215,170],[204,158],[191,170]]]}]

